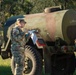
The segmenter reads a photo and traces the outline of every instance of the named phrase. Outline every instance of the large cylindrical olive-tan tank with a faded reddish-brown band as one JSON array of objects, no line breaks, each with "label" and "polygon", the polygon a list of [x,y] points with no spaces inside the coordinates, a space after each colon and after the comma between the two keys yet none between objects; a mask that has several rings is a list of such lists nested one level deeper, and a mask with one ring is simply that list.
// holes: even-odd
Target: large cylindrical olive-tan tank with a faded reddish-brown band
[{"label": "large cylindrical olive-tan tank with a faded reddish-brown band", "polygon": [[27,22],[25,28],[39,29],[45,41],[55,41],[56,37],[65,40],[68,44],[76,38],[76,12],[62,10],[24,15]]}]

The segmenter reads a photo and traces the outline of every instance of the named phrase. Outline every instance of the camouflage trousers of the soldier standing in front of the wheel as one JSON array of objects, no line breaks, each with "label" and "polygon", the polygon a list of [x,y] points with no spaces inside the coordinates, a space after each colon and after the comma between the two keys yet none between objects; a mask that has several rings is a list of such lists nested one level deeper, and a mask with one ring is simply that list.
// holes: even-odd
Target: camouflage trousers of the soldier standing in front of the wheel
[{"label": "camouflage trousers of the soldier standing in front of the wheel", "polygon": [[23,75],[23,69],[25,66],[25,54],[24,47],[12,46],[11,52],[15,61],[15,73],[14,75]]}]

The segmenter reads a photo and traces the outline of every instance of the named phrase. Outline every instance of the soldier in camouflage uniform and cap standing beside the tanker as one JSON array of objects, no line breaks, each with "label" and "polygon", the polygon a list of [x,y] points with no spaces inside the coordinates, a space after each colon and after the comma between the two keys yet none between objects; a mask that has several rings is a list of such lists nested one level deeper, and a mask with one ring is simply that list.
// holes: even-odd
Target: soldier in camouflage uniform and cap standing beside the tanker
[{"label": "soldier in camouflage uniform and cap standing beside the tanker", "polygon": [[25,32],[22,31],[22,28],[25,26],[26,22],[24,19],[17,19],[16,25],[12,28],[11,31],[11,52],[16,63],[14,75],[23,75],[24,68],[24,46],[26,43]]}]

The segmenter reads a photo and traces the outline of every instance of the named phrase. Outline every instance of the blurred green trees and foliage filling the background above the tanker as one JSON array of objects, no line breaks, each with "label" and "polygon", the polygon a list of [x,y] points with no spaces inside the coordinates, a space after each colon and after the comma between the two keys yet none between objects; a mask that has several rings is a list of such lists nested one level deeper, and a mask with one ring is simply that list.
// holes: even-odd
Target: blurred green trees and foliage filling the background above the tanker
[{"label": "blurred green trees and foliage filling the background above the tanker", "polygon": [[0,23],[13,15],[40,13],[46,7],[58,5],[62,9],[76,9],[76,0],[0,0]]}]

